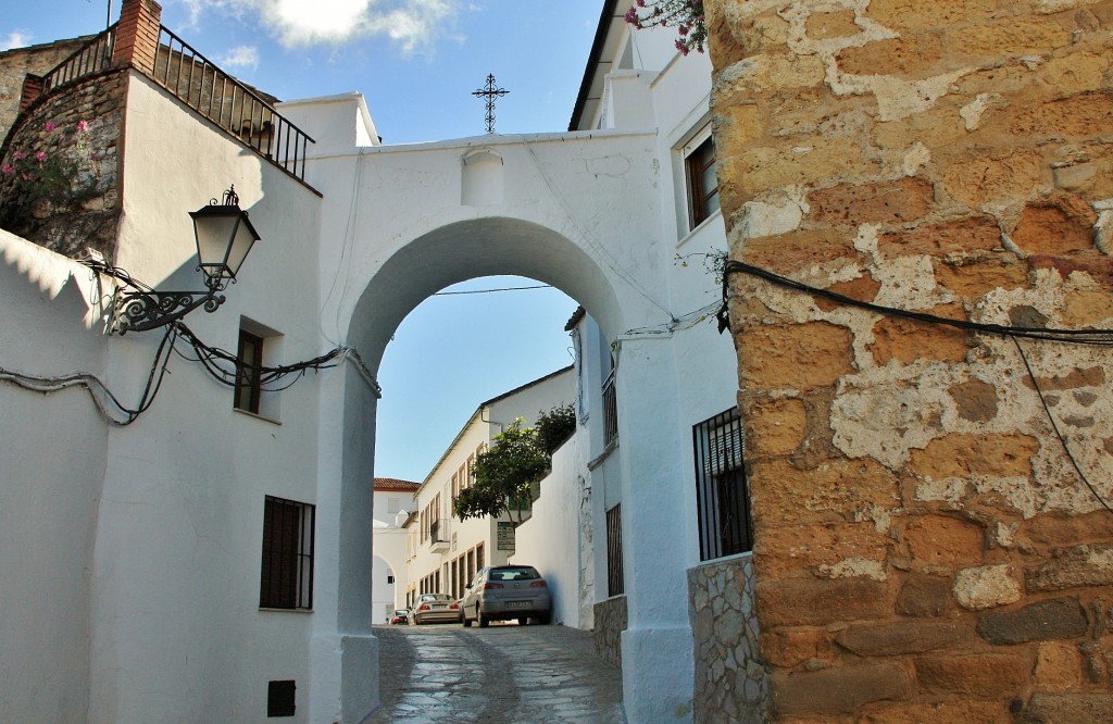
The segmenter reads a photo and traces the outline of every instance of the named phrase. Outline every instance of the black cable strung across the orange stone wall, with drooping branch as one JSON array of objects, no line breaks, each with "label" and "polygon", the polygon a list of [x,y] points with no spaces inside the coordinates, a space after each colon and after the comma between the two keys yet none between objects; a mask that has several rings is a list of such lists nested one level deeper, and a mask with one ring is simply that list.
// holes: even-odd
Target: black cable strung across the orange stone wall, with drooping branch
[{"label": "black cable strung across the orange stone wall, with drooping branch", "polygon": [[1036,375],[1028,364],[1027,356],[1024,354],[1024,349],[1021,346],[1020,337],[1030,340],[1042,340],[1045,342],[1065,342],[1073,344],[1087,344],[1096,346],[1113,346],[1113,330],[1062,330],[1054,327],[1030,327],[1030,326],[1011,326],[1005,324],[982,324],[977,322],[968,322],[965,320],[951,320],[944,316],[937,316],[934,314],[925,314],[923,312],[912,312],[908,310],[900,310],[892,306],[883,306],[880,304],[874,304],[871,302],[863,302],[861,300],[856,300],[854,297],[845,296],[829,290],[819,288],[805,284],[802,282],[797,282],[796,280],[789,278],[787,276],[781,276],[775,272],[771,272],[759,266],[754,266],[752,264],[747,264],[745,262],[739,262],[736,260],[730,260],[727,262],[723,274],[722,274],[722,301],[717,314],[719,319],[719,333],[730,329],[729,321],[729,299],[730,299],[730,275],[733,273],[748,274],[750,276],[756,276],[762,278],[776,286],[782,286],[799,292],[805,292],[811,294],[812,296],[821,296],[840,304],[847,304],[849,306],[856,306],[859,309],[868,310],[870,312],[876,312],[878,314],[884,314],[886,316],[899,316],[909,320],[916,320],[918,322],[926,322],[928,324],[943,324],[947,326],[958,327],[967,332],[981,332],[985,334],[996,334],[1001,336],[1007,336],[1013,340],[1016,345],[1016,350],[1021,355],[1021,360],[1024,362],[1024,369],[1027,371],[1028,379],[1032,382],[1033,388],[1036,391],[1036,397],[1040,399],[1040,403],[1043,405],[1044,413],[1047,415],[1047,420],[1051,422],[1052,430],[1055,431],[1055,436],[1058,438],[1060,443],[1063,446],[1063,450],[1066,453],[1067,460],[1074,467],[1075,472],[1077,472],[1078,478],[1082,482],[1090,489],[1091,495],[1094,499],[1102,505],[1103,508],[1113,512],[1113,507],[1105,501],[1104,498],[1097,492],[1097,489],[1090,482],[1083,473],[1082,468],[1078,466],[1077,460],[1071,452],[1070,446],[1066,443],[1066,438],[1058,429],[1058,424],[1055,422],[1054,415],[1051,413],[1051,408],[1047,405],[1047,401],[1044,399],[1043,390],[1040,388],[1040,383],[1036,380]]}]

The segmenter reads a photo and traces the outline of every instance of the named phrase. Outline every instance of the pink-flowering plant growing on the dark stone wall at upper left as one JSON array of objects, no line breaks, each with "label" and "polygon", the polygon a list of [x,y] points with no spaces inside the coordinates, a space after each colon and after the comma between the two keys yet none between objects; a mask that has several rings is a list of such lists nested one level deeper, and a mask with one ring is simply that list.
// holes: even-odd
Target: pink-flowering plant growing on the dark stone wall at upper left
[{"label": "pink-flowering plant growing on the dark stone wall at upper left", "polygon": [[91,198],[96,186],[88,121],[78,121],[70,140],[48,120],[29,146],[16,147],[0,165],[0,225],[12,228],[32,216],[72,209]]}]

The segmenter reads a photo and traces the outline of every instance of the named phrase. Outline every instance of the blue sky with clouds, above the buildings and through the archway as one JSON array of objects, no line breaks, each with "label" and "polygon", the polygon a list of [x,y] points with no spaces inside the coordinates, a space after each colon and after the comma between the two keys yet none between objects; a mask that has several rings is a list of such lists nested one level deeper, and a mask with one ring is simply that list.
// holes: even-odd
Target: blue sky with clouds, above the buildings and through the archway
[{"label": "blue sky with clouds, above the buildings and through the archway", "polygon": [[[282,99],[359,91],[385,144],[562,131],[603,0],[162,0],[162,25]],[[111,21],[120,0],[111,0]],[[0,50],[99,32],[107,0],[0,0]],[[473,280],[450,291],[535,284]],[[421,481],[480,402],[571,364],[575,302],[552,288],[434,296],[380,369],[376,474]]]}]

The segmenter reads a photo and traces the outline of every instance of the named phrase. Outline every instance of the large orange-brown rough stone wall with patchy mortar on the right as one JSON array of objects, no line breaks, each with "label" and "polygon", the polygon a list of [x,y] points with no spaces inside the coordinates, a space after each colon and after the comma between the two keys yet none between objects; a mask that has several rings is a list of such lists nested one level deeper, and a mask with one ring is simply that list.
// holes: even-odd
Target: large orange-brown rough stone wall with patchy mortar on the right
[{"label": "large orange-brown rough stone wall with patchy mortar on the right", "polygon": [[[1113,2],[706,9],[732,258],[1113,327]],[[731,294],[771,718],[1113,718],[1113,351]]]}]

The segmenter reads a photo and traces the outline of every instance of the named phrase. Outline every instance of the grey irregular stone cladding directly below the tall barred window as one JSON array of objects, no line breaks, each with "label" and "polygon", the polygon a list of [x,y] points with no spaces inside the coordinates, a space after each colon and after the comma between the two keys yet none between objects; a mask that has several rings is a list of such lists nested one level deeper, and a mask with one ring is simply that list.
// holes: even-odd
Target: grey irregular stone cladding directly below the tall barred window
[{"label": "grey irregular stone cladding directly below the tall barred window", "polygon": [[695,720],[762,724],[768,687],[758,650],[750,557],[690,569],[688,595],[696,650]]}]

